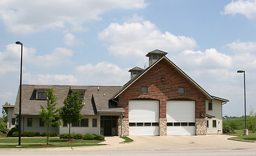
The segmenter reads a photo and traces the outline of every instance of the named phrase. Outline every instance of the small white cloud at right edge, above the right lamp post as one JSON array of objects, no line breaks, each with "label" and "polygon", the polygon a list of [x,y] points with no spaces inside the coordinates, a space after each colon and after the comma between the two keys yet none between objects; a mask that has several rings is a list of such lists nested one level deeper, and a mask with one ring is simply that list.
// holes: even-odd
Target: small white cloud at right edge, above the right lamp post
[{"label": "small white cloud at right edge, above the right lamp post", "polygon": [[232,42],[227,44],[225,47],[231,48],[236,53],[255,53],[256,52],[256,42]]}]

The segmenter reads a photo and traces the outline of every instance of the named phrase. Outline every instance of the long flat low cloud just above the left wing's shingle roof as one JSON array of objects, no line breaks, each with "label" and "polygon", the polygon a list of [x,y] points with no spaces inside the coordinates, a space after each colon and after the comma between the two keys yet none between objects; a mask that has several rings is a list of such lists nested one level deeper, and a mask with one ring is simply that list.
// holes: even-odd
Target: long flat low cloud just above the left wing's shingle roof
[{"label": "long flat low cloud just above the left wing's shingle roof", "polygon": [[76,85],[78,80],[74,75],[32,75],[31,73],[23,74],[25,83],[39,85]]}]

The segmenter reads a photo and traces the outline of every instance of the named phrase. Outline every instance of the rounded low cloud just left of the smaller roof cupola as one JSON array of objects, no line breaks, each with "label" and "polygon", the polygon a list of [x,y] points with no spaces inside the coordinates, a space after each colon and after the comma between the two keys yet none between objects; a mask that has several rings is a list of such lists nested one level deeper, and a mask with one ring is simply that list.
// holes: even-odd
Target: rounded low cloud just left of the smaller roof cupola
[{"label": "rounded low cloud just left of the smaller roof cupola", "polygon": [[124,85],[130,79],[127,68],[109,62],[78,66],[76,72],[83,85]]}]

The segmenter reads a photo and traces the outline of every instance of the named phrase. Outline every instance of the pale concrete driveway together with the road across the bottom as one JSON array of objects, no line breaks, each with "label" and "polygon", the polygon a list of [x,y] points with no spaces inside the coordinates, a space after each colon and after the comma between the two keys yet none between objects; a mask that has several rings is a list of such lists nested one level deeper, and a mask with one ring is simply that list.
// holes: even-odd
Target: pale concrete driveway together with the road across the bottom
[{"label": "pale concrete driveway together with the road across the bottom", "polygon": [[256,155],[255,142],[227,140],[227,135],[130,136],[135,141],[119,144],[118,136],[106,137],[106,146],[74,148],[0,149],[0,155]]}]

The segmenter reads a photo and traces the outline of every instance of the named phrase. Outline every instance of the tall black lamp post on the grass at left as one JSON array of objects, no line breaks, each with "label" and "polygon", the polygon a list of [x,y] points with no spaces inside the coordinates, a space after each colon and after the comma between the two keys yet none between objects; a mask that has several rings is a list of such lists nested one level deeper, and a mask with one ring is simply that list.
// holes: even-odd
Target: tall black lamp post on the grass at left
[{"label": "tall black lamp post on the grass at left", "polygon": [[21,146],[21,80],[22,80],[22,52],[23,44],[20,41],[17,41],[16,44],[21,45],[21,57],[20,57],[20,110],[19,110],[19,142],[18,146]]}]

